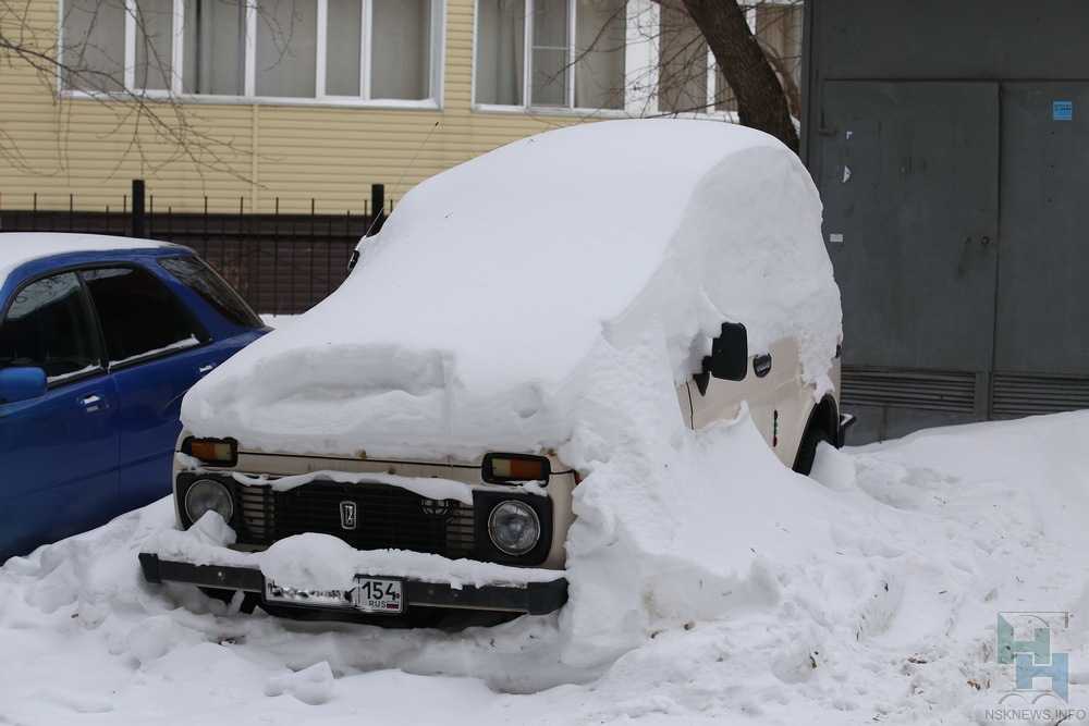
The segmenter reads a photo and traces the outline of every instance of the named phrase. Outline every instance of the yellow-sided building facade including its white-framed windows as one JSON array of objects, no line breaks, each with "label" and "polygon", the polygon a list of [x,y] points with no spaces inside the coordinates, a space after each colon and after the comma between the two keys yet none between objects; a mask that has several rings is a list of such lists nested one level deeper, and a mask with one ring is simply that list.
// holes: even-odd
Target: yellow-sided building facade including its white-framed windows
[{"label": "yellow-sided building facade including its white-framed windows", "polygon": [[37,47],[59,42],[60,70],[0,67],[0,209],[117,209],[140,177],[157,209],[309,212],[313,199],[318,213],[354,212],[374,183],[395,200],[549,128],[730,118],[706,46],[693,56],[690,34],[668,33],[650,0],[26,8],[0,22]]}]

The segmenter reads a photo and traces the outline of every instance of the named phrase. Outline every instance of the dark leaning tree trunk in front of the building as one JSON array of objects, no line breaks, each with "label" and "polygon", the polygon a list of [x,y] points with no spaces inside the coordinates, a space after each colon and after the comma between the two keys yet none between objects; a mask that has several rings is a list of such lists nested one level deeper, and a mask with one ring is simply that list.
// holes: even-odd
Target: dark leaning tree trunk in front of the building
[{"label": "dark leaning tree trunk in front of the building", "polygon": [[684,0],[684,5],[737,98],[741,122],[771,134],[797,152],[798,132],[786,94],[737,0]]}]

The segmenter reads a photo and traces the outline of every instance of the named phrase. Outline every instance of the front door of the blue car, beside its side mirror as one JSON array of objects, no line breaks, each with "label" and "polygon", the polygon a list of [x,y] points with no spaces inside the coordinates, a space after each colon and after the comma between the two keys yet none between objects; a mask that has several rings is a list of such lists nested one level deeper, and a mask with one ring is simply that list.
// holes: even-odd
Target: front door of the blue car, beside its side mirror
[{"label": "front door of the blue car, beside its side mirror", "polygon": [[7,302],[0,368],[36,367],[48,389],[0,402],[0,562],[106,521],[118,497],[118,397],[74,272]]}]

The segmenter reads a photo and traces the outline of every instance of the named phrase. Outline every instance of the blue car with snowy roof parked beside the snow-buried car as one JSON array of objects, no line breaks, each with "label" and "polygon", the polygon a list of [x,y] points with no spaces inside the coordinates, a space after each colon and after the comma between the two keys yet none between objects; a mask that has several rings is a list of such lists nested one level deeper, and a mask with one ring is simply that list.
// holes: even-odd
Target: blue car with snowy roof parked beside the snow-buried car
[{"label": "blue car with snowy roof parked beside the snow-buried car", "polygon": [[0,234],[0,564],[169,494],[182,397],[267,331],[186,247]]}]

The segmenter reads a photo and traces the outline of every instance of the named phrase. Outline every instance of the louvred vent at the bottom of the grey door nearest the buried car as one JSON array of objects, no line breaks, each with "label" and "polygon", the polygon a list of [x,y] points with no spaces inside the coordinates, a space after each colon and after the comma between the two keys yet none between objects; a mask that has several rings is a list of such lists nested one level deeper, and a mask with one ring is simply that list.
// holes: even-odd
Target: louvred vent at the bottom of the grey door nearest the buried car
[{"label": "louvred vent at the bottom of the grey door nearest the buried car", "polygon": [[963,371],[844,366],[843,406],[897,406],[972,414],[976,374]]}]

